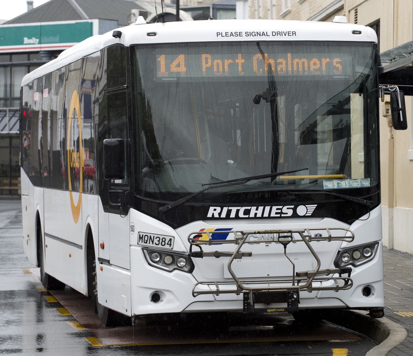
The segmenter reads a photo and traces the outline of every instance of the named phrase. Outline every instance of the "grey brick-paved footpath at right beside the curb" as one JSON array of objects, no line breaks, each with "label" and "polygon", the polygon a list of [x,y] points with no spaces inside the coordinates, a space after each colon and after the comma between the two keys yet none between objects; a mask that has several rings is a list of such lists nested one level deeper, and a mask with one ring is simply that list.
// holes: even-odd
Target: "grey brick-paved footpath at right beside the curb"
[{"label": "grey brick-paved footpath at right beside the curb", "polygon": [[409,333],[388,355],[413,355],[413,255],[383,248],[383,261],[385,317],[403,325]]}]

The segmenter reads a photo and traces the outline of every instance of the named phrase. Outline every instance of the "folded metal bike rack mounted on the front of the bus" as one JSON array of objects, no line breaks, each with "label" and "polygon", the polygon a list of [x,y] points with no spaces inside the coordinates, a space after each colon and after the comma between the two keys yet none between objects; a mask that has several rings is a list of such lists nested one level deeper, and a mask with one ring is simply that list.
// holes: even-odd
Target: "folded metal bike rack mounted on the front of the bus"
[{"label": "folded metal bike rack mounted on the front of the bus", "polygon": [[[312,231],[318,231],[314,236]],[[326,237],[320,231],[326,232]],[[333,236],[334,231],[340,231],[339,236]],[[212,234],[233,234],[234,238],[225,240],[213,240]],[[272,240],[248,240],[252,235],[256,234],[270,234]],[[299,238],[298,238],[298,236]],[[205,237],[207,237],[205,239]],[[294,238],[295,237],[295,238]],[[202,240],[200,238],[203,238]],[[197,297],[202,294],[228,294],[235,293],[240,295],[243,293],[244,312],[277,312],[277,311],[298,311],[298,304],[300,302],[300,291],[312,292],[313,290],[347,290],[353,286],[353,281],[350,278],[351,268],[336,268],[320,270],[320,259],[317,253],[311,247],[312,241],[345,241],[352,242],[354,240],[353,231],[345,228],[305,228],[305,229],[291,229],[291,230],[228,230],[228,231],[196,231],[188,236],[190,243],[190,257],[230,257],[228,261],[228,271],[233,278],[233,281],[201,281],[192,288],[192,296]],[[309,249],[314,259],[316,259],[317,266],[313,271],[299,271],[295,272],[295,265],[292,259],[287,255],[287,245],[291,242],[304,242]],[[241,259],[242,257],[251,257],[252,252],[241,252],[244,243],[280,243],[284,247],[284,255],[292,264],[292,277],[275,277],[262,278],[254,280],[240,280],[231,265],[234,259]],[[203,251],[202,245],[222,245],[235,244],[237,247],[233,252],[209,252]],[[199,251],[192,252],[192,246],[199,248]],[[338,274],[338,276],[334,276]],[[347,274],[347,277],[342,277],[342,274]],[[331,275],[331,276],[330,276]],[[313,287],[313,282],[328,282],[333,281],[334,286]],[[209,290],[197,290],[198,285],[206,285]],[[233,289],[222,290],[220,285],[234,285]],[[321,285],[321,284],[320,284]],[[256,303],[287,303],[286,308],[278,309],[259,309],[255,308]]]}]

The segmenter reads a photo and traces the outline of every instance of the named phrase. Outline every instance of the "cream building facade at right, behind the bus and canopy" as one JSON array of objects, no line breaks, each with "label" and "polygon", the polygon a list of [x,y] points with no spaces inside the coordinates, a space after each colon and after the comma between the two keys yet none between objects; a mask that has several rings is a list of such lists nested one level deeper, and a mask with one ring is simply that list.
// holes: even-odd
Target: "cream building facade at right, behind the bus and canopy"
[{"label": "cream building facade at right, behind the bus and canopy", "polygon": [[[332,21],[335,16],[373,28],[380,53],[413,38],[411,0],[237,0],[237,19]],[[413,46],[405,55],[412,52]],[[413,254],[413,97],[406,97],[405,131],[389,124],[388,103],[389,97],[380,103],[383,244]]]}]

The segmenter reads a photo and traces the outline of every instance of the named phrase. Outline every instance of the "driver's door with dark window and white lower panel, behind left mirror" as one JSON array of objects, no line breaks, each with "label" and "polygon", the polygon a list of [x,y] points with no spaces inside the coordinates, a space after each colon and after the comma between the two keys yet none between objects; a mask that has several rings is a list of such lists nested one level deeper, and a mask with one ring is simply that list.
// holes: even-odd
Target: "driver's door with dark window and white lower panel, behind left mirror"
[{"label": "driver's door with dark window and white lower panel, behind left mirror", "polygon": [[[125,207],[116,206],[119,203],[119,196],[130,189],[130,177],[128,176],[128,130],[127,130],[127,92],[126,90],[117,92],[107,92],[107,138],[123,139],[125,142],[125,178],[112,179],[105,184],[102,192],[107,196],[107,210],[109,213],[99,214],[99,226],[102,229],[107,227],[108,231],[99,229],[99,240],[105,236],[105,248],[99,249],[99,257],[108,259],[111,264],[125,269],[130,268],[129,252],[129,213]],[[116,191],[121,193],[116,193]],[[101,235],[102,231],[102,235]]]}]

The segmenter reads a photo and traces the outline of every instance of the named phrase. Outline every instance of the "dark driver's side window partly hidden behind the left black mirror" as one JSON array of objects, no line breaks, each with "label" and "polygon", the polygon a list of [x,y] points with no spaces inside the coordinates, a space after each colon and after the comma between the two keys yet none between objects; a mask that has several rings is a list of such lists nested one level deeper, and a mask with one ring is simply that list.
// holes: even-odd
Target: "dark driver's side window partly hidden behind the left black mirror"
[{"label": "dark driver's side window partly hidden behind the left black mirror", "polygon": [[115,180],[114,184],[127,186],[128,182],[128,147],[127,147],[127,125],[128,125],[128,108],[126,100],[126,91],[107,94],[107,124],[108,135],[110,139],[123,139],[125,142],[125,178]]}]

